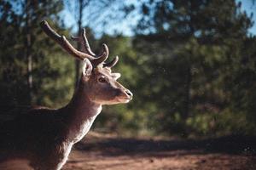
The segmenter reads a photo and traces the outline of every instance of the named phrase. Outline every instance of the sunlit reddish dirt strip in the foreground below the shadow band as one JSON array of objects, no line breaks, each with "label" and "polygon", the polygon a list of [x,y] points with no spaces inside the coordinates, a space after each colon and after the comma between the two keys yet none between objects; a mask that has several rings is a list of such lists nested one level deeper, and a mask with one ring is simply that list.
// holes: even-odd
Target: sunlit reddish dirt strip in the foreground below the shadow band
[{"label": "sunlit reddish dirt strip in the foreground below the shadow band", "polygon": [[104,156],[102,153],[74,151],[64,168],[72,169],[106,169],[106,170],[246,170],[256,169],[247,156],[230,156],[227,154],[201,154],[183,150],[176,152],[154,153],[133,156]]}]

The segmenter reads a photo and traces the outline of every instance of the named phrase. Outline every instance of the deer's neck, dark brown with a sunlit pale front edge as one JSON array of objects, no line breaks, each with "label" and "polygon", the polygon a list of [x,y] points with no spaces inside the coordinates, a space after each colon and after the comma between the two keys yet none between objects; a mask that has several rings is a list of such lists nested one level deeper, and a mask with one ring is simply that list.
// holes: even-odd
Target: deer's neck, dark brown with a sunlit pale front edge
[{"label": "deer's neck, dark brown with a sunlit pale front edge", "polygon": [[102,111],[102,105],[92,102],[86,95],[86,90],[79,87],[65,109],[69,119],[67,138],[76,143],[88,133],[96,116]]}]

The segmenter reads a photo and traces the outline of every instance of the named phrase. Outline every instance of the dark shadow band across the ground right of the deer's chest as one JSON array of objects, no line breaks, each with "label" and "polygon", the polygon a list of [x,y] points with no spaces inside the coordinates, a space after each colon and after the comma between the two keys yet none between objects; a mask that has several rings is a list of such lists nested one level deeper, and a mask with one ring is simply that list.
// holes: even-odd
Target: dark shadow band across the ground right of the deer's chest
[{"label": "dark shadow band across the ground right of the deer's chest", "polygon": [[197,150],[199,154],[203,152],[256,156],[256,137],[226,136],[201,140],[107,138],[92,142],[85,138],[75,148],[84,151],[102,150],[102,154],[109,156],[174,150]]}]

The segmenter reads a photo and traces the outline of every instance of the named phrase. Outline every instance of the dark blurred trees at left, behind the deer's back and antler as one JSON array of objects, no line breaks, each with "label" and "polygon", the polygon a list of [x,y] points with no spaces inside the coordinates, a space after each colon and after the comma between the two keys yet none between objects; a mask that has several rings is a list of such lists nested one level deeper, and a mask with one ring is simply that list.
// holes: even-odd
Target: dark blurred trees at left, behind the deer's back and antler
[{"label": "dark blurred trees at left, behind the deer's back and antler", "polygon": [[11,107],[65,104],[72,94],[70,72],[73,67],[69,59],[63,58],[61,48],[51,42],[39,26],[45,18],[59,24],[62,3],[2,1],[0,8],[3,9],[0,18],[4,41],[0,46],[1,104]]}]

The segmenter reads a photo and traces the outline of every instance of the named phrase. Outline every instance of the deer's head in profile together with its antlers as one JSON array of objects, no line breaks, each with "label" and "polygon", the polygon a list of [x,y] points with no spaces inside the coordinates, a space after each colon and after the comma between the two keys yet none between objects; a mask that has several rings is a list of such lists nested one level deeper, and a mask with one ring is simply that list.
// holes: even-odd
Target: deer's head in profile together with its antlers
[{"label": "deer's head in profile together with its antlers", "polygon": [[90,100],[101,105],[113,105],[119,103],[127,103],[132,99],[131,92],[124,88],[117,79],[119,73],[112,73],[111,68],[116,65],[119,58],[116,56],[112,61],[105,63],[108,59],[108,46],[102,44],[102,53],[94,54],[90,50],[90,45],[85,36],[85,30],[79,37],[72,37],[74,41],[81,43],[81,51],[73,48],[66,37],[60,36],[48,23],[43,20],[41,27],[44,32],[58,42],[69,54],[72,54],[77,59],[83,60],[82,77],[79,82],[79,88],[84,89],[84,93]]}]

